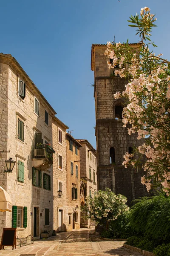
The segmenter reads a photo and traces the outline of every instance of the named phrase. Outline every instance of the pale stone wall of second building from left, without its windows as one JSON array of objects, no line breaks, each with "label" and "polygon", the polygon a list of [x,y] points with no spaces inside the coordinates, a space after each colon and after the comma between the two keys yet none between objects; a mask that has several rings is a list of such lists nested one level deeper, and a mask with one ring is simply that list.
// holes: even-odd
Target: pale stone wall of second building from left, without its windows
[{"label": "pale stone wall of second building from left, without its windows", "polygon": [[[62,131],[62,143],[59,143],[59,130]],[[68,226],[68,206],[67,206],[67,183],[66,183],[66,128],[55,118],[53,119],[53,148],[56,151],[53,159],[53,186],[54,186],[54,230],[59,230],[59,210],[62,210],[63,224],[62,230]],[[62,169],[59,168],[59,155],[62,156]],[[58,197],[59,182],[62,182],[62,196]]]}]

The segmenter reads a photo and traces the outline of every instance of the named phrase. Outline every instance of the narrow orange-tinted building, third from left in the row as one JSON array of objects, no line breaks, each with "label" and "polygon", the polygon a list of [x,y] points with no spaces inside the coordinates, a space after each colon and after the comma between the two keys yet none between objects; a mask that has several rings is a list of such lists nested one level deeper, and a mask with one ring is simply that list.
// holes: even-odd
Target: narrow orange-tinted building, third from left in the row
[{"label": "narrow orange-tinted building, third from left in the row", "polygon": [[81,145],[66,134],[68,231],[80,228],[80,151]]}]

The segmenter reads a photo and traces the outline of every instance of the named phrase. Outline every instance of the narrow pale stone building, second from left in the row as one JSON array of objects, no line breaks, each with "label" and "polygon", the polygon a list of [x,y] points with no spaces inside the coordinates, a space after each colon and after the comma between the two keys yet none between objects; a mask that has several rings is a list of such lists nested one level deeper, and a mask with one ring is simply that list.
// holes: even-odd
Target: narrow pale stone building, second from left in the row
[{"label": "narrow pale stone building, second from left in the row", "polygon": [[[66,129],[68,126],[56,116],[53,117],[53,198],[54,230],[68,230]],[[59,194],[60,192],[60,194]]]}]

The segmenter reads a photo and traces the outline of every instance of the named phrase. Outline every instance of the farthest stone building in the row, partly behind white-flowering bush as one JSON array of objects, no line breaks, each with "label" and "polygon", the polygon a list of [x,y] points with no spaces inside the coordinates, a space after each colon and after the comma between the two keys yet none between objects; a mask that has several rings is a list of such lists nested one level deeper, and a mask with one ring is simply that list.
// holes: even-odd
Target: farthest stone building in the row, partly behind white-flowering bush
[{"label": "farthest stone building in the row, partly behind white-flowering bush", "polygon": [[[81,198],[91,196],[97,192],[97,173],[96,173],[96,150],[88,142],[88,140],[78,140],[82,145],[80,148],[80,177],[84,181],[81,184]],[[81,205],[85,204],[84,200],[81,200]],[[85,212],[81,212],[80,227],[94,226],[94,222],[90,219],[85,219]]]}]

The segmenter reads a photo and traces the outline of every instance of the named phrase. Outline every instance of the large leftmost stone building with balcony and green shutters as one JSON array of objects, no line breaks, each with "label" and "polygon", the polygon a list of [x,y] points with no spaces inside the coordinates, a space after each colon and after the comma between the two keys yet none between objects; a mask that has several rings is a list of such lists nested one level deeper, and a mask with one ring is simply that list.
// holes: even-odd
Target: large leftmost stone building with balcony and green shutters
[{"label": "large leftmost stone building with balcony and green shutters", "polygon": [[[53,230],[52,119],[56,112],[14,57],[0,53],[0,186],[10,195],[12,212],[0,212],[3,227],[17,236],[40,238]],[[5,160],[16,161],[5,173]]]}]

